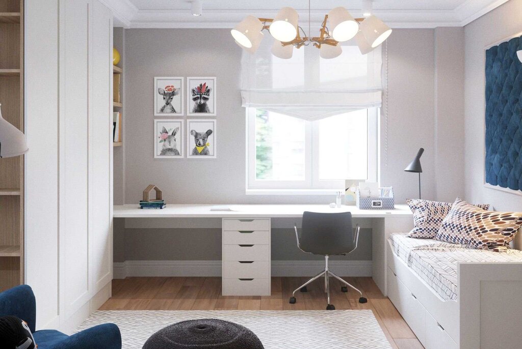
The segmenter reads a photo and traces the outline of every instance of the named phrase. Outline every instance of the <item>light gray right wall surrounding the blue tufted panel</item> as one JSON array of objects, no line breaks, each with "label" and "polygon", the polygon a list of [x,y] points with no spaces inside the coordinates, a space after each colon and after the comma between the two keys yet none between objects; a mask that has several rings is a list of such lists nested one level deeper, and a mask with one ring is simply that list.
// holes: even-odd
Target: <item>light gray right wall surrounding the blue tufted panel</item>
[{"label": "light gray right wall surrounding the blue tufted panel", "polygon": [[[509,36],[522,35],[522,0],[511,0],[468,24],[466,37],[466,196],[497,210],[522,210],[522,196],[485,188],[484,50]],[[522,246],[518,246],[522,247]]]}]

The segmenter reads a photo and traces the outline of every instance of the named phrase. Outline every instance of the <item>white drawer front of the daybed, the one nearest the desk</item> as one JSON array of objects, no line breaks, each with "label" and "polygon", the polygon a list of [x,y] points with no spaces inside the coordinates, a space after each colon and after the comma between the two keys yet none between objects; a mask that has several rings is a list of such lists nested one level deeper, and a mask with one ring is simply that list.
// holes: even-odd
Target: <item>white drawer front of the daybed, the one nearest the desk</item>
[{"label": "white drawer front of the daybed, the one nearest the desk", "polygon": [[406,320],[408,326],[422,343],[425,339],[424,322],[426,310],[417,297],[397,278],[395,273],[388,268],[388,298],[399,310],[400,315]]}]

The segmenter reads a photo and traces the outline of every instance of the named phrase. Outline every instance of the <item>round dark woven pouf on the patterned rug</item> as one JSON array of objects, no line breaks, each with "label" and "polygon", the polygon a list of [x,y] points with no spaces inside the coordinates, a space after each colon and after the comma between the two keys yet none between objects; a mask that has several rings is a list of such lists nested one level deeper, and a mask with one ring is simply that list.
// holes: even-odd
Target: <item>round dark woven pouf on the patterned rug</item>
[{"label": "round dark woven pouf on the patterned rug", "polygon": [[264,349],[259,338],[237,323],[201,319],[174,323],[153,334],[143,349]]}]

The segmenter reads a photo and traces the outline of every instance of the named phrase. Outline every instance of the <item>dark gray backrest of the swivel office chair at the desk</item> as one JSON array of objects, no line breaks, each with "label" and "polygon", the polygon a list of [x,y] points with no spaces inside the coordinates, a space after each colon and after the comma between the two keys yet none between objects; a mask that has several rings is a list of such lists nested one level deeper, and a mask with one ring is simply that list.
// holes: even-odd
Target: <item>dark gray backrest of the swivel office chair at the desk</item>
[{"label": "dark gray backrest of the swivel office chair at the desk", "polygon": [[318,255],[340,255],[355,249],[352,214],[303,213],[300,248]]}]

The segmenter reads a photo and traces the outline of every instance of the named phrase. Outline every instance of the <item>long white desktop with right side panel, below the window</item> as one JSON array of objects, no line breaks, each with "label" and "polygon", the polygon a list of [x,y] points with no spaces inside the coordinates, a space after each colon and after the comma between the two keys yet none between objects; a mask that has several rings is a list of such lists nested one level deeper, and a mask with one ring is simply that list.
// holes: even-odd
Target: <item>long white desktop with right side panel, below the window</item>
[{"label": "long white desktop with right side panel, below the window", "polygon": [[167,204],[164,209],[140,209],[137,204],[114,206],[114,218],[301,218],[304,211],[351,212],[353,218],[372,221],[372,277],[386,295],[386,244],[393,232],[410,231],[412,213],[407,205],[394,210],[361,210],[355,206],[330,208],[328,205],[219,205],[232,211],[211,211],[216,205]]}]

